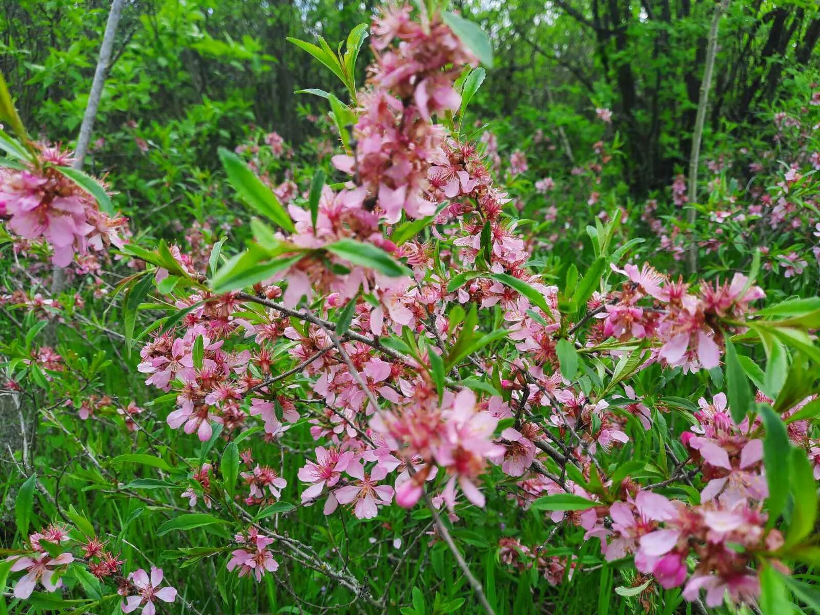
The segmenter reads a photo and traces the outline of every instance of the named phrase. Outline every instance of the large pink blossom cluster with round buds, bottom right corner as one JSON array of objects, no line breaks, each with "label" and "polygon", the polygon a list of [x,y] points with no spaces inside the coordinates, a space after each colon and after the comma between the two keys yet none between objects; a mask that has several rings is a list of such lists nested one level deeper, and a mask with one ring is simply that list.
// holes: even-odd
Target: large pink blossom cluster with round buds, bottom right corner
[{"label": "large pink blossom cluster with round buds, bottom right corner", "polygon": [[[608,561],[635,553],[640,572],[654,575],[667,589],[686,581],[687,600],[706,590],[706,604],[713,607],[722,604],[726,593],[735,602],[756,597],[758,576],[749,564],[755,553],[778,549],[783,538],[777,530],[767,531],[762,512],[768,495],[763,440],[750,437],[748,419],[740,425],[731,420],[724,394],[712,403],[701,398],[699,404],[698,424],[681,440],[708,480],[701,504],[688,506],[637,485],[622,485],[626,499],[613,503],[605,516],[596,509],[584,526],[586,537],[601,540]],[[691,574],[686,563],[690,554],[697,561]]]}]

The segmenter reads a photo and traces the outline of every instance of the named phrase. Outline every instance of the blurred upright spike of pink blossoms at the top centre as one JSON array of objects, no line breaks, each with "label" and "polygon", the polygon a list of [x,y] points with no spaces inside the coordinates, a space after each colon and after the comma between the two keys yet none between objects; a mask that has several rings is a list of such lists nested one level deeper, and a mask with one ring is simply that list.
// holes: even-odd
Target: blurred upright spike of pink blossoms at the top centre
[{"label": "blurred upright spike of pink blossoms at the top centre", "polygon": [[428,171],[444,162],[446,132],[430,117],[458,110],[453,81],[463,66],[477,63],[442,21],[413,21],[410,12],[409,5],[388,7],[374,22],[376,65],[370,87],[359,94],[355,148],[333,157],[339,170],[354,175],[348,199],[367,211],[378,207],[390,224],[402,212],[435,213]]}]

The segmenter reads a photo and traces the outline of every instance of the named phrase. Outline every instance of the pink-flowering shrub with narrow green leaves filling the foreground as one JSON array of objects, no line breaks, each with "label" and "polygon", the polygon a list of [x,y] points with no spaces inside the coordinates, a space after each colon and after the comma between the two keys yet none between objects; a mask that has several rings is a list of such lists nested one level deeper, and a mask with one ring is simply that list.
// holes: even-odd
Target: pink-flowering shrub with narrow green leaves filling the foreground
[{"label": "pink-flowering shrub with narrow green leaves filling the foreground", "polygon": [[[614,594],[646,612],[775,613],[786,590],[810,602],[820,302],[778,279],[792,284],[809,257],[760,242],[700,273],[674,264],[693,247],[728,258],[722,225],[740,225],[738,241],[766,224],[805,234],[813,213],[792,197],[816,203],[812,159],[742,207],[729,162],[709,161],[715,207],[699,226],[641,206],[652,252],[627,235],[635,208],[610,207],[605,137],[570,172],[590,188],[575,203],[590,216],[562,253],[566,238],[540,232],[559,221],[544,201],[561,180],[533,153],[502,157],[494,134],[461,130],[489,40],[433,9],[380,10],[360,89],[367,25],[344,53],[297,41],[351,100],[319,91],[338,139],[309,173],[273,131],[220,150],[254,214],[235,235],[197,225],[178,244],[125,242],[124,221],[99,209],[103,185],[86,192],[94,180],[63,173],[56,149],[21,143],[31,159],[0,171],[15,257],[51,254],[121,314],[113,330],[84,316],[79,294],[2,295],[4,312],[25,314],[2,345],[2,393],[38,402],[41,446],[75,451],[49,466],[25,425],[9,448],[15,538],[0,572],[15,606],[206,613],[250,592],[260,611],[392,612],[409,608],[407,558],[458,575],[451,611],[506,612],[496,583],[526,602],[585,578],[606,592],[614,575]],[[692,205],[685,179],[671,187],[677,209]],[[542,219],[519,216],[530,198]],[[103,248],[128,270],[110,289],[83,260]],[[67,334],[47,344],[47,319],[115,340],[131,388],[110,384],[119,367],[105,353],[81,356]],[[207,600],[189,599],[195,576]]]}]

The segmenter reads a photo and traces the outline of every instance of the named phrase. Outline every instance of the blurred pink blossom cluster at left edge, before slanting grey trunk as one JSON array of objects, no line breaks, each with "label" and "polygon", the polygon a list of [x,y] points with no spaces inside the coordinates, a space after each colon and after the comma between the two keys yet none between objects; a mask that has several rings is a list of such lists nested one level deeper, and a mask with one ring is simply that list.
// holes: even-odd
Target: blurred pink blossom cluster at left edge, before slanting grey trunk
[{"label": "blurred pink blossom cluster at left edge, before slanting grey trunk", "polygon": [[43,238],[51,245],[52,262],[67,266],[75,253],[107,245],[121,248],[125,218],[101,212],[96,201],[56,166],[71,163],[68,153],[37,145],[36,164],[25,171],[0,168],[0,219],[25,239]]}]

